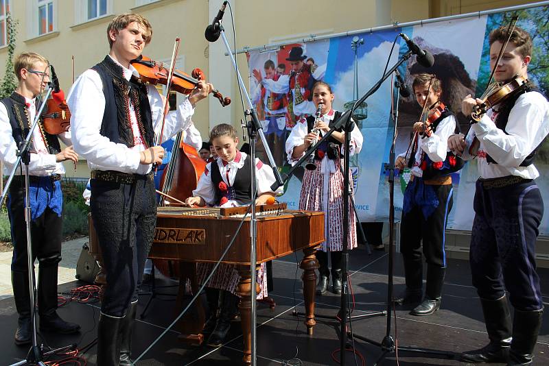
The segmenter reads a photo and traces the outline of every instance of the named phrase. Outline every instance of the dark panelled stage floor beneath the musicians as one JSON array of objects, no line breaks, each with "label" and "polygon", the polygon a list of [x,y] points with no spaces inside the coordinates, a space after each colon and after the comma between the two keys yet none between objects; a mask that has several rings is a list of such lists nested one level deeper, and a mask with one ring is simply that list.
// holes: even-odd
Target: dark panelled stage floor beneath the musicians
[{"label": "dark panelled stage floor beneath the musicians", "polygon": [[[317,319],[314,335],[307,336],[303,317],[295,317],[292,310],[296,306],[303,312],[303,291],[301,269],[297,263],[301,256],[286,256],[273,263],[274,291],[270,296],[277,302],[270,310],[264,304],[257,311],[257,365],[338,365],[332,354],[340,347],[338,340],[339,324],[331,319]],[[363,247],[351,252],[351,286],[354,295],[353,315],[379,312],[386,308],[388,254],[374,251],[371,256]],[[396,294],[404,289],[401,257],[395,258]],[[544,303],[548,301],[549,270],[539,269]],[[159,280],[157,280],[159,281]],[[174,284],[173,280],[163,279],[161,284]],[[82,282],[74,281],[59,286],[60,291],[70,291]],[[162,292],[176,289],[161,289]],[[138,309],[138,321],[133,333],[133,358],[137,358],[161,334],[174,319],[173,297],[160,296],[152,301],[145,319],[139,319],[148,295],[143,295]],[[352,301],[352,300],[351,300]],[[316,297],[316,313],[335,316],[340,304],[339,295],[327,293]],[[351,307],[353,306],[351,302]],[[482,319],[482,310],[476,291],[471,286],[469,263],[465,260],[449,260],[443,302],[439,311],[428,317],[414,317],[407,310],[398,308],[396,320],[391,319],[391,334],[399,346],[425,347],[431,350],[447,351],[456,356],[455,360],[437,356],[425,357],[400,350],[399,365],[466,365],[457,360],[459,352],[482,347],[488,341]],[[99,304],[80,304],[71,302],[59,310],[60,315],[82,326],[80,334],[59,336],[42,334],[43,343],[50,347],[59,347],[69,343],[78,343],[78,347],[88,345],[96,337]],[[544,315],[535,348],[535,365],[549,365],[549,323]],[[13,334],[16,329],[17,315],[13,298],[0,301],[0,354],[1,364],[11,365],[25,358],[28,347],[14,345]],[[352,322],[355,334],[381,342],[386,335],[387,318],[384,316],[356,319]],[[397,333],[395,337],[395,332]],[[206,346],[185,345],[177,340],[177,332],[168,331],[164,337],[152,346],[137,365],[240,365],[242,360],[242,334],[240,323],[231,327],[226,344],[212,349]],[[355,349],[364,356],[366,365],[373,365],[382,354],[382,350],[369,343],[355,339]],[[87,365],[95,363],[96,347],[91,347],[83,356]],[[397,354],[387,354],[383,365],[397,365]],[[337,355],[339,358],[339,355]],[[355,365],[351,352],[347,352],[347,365]],[[357,365],[362,365],[358,358]]]}]

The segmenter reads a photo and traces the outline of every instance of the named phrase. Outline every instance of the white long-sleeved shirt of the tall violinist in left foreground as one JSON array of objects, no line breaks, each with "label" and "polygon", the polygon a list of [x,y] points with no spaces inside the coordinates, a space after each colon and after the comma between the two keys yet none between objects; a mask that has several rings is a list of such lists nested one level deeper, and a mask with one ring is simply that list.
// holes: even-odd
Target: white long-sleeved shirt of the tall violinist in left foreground
[{"label": "white long-sleeved shirt of the tall violinist in left foreground", "polygon": [[[130,69],[121,67],[126,80],[130,80],[132,74],[139,76],[133,66],[130,65]],[[152,125],[155,134],[159,135],[162,129],[163,99],[158,90],[150,84],[147,86],[147,91],[152,113]],[[145,149],[145,145],[136,144],[135,147],[130,148],[121,143],[114,143],[108,137],[100,134],[105,97],[103,82],[97,71],[89,69],[78,77],[69,91],[67,103],[71,110],[74,149],[88,160],[88,167],[91,170],[114,170],[137,174],[146,174],[151,170],[152,164],[139,162],[141,160],[140,152]],[[165,119],[161,141],[166,141],[167,138],[181,130],[187,130],[192,123],[191,116],[193,114],[194,106],[191,105],[189,99],[185,99],[176,111],[169,112]],[[136,134],[136,129],[133,127],[133,125],[137,125],[137,118],[131,101],[130,120],[135,138],[141,138],[139,129]]]}]

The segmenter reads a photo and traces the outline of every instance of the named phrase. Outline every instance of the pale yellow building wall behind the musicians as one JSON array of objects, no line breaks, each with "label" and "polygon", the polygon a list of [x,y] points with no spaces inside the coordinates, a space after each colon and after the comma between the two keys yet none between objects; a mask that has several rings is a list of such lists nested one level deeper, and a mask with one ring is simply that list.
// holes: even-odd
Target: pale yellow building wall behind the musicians
[{"label": "pale yellow building wall behind the musicians", "polygon": [[[204,140],[211,125],[233,121],[237,125],[243,117],[242,104],[232,64],[224,56],[221,40],[208,43],[204,29],[217,14],[222,0],[160,0],[135,7],[135,0],[110,0],[112,14],[89,23],[75,25],[75,1],[54,0],[56,6],[56,32],[32,38],[27,30],[27,3],[35,0],[10,0],[11,11],[19,21],[16,53],[35,51],[49,58],[56,67],[62,88],[68,93],[71,86],[71,56],[74,56],[74,73],[80,73],[96,64],[108,53],[106,27],[113,14],[138,12],[152,23],[152,43],[145,48],[145,55],[156,60],[169,59],[174,39],[181,38],[180,56],[183,70],[200,67],[209,80],[233,103],[229,108],[220,107],[216,99],[198,104],[194,122]],[[325,35],[428,19],[459,12],[473,12],[502,6],[531,3],[520,0],[233,0],[233,13],[237,32],[237,49],[257,47],[271,42],[283,42],[296,38],[308,38],[311,34]],[[459,8],[461,4],[461,8]],[[61,8],[62,7],[62,8]],[[457,7],[457,8],[456,8]],[[227,38],[233,45],[229,8],[223,21]],[[3,71],[7,48],[0,48],[0,70]],[[244,83],[248,85],[248,69],[244,54],[237,57]],[[3,72],[0,72],[3,75]],[[239,129],[240,131],[240,129]],[[75,174],[67,167],[67,175]],[[76,175],[86,175],[85,166]]]}]

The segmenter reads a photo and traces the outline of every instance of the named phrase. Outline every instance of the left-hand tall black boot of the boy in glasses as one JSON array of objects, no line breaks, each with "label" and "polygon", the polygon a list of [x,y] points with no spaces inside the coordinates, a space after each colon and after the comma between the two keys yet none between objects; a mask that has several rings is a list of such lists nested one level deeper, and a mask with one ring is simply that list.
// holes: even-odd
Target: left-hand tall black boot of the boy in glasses
[{"label": "left-hand tall black boot of the boy in glasses", "polygon": [[12,271],[12,287],[15,307],[19,314],[15,344],[25,345],[31,342],[32,324],[30,321],[29,273]]}]

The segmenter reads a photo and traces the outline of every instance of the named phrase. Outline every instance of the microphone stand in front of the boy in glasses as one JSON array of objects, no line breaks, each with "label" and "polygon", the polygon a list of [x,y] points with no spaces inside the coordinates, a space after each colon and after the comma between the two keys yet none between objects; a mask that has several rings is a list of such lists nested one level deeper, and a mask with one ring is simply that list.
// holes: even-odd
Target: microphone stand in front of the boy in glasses
[{"label": "microphone stand in front of the boy in glasses", "polygon": [[23,163],[25,164],[25,223],[27,227],[27,266],[29,271],[29,293],[30,293],[30,319],[32,324],[32,346],[29,350],[29,353],[27,354],[27,358],[23,361],[19,361],[18,363],[14,363],[10,366],[18,366],[18,365],[40,365],[45,366],[45,363],[43,362],[45,356],[51,356],[52,354],[56,354],[58,352],[62,351],[68,351],[68,350],[75,350],[76,345],[71,344],[67,345],[65,347],[60,347],[56,350],[51,350],[48,352],[43,352],[43,345],[38,346],[38,341],[36,339],[36,283],[34,278],[34,261],[32,260],[32,238],[31,238],[31,208],[30,208],[30,194],[29,194],[29,163],[30,163],[30,143],[32,141],[32,134],[34,130],[36,129],[36,126],[38,125],[38,120],[40,119],[40,116],[42,115],[42,110],[44,109],[47,101],[49,98],[49,95],[51,94],[51,91],[53,88],[49,86],[49,88],[46,91],[46,95],[44,97],[44,102],[40,103],[40,108],[36,111],[36,115],[34,116],[34,121],[32,122],[32,125],[30,127],[29,133],[27,134],[27,137],[25,138],[25,141],[21,142],[19,146],[19,151],[17,152],[17,160],[12,168],[12,171],[10,173],[10,176],[8,177],[8,180],[5,182],[4,190],[2,191],[2,195],[0,196],[0,207],[4,204],[5,198],[8,196],[8,191],[10,190],[10,186],[12,184],[12,180],[14,178],[14,175],[19,168],[19,164]]}]

